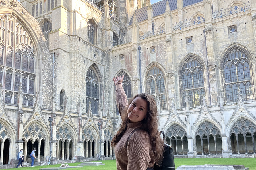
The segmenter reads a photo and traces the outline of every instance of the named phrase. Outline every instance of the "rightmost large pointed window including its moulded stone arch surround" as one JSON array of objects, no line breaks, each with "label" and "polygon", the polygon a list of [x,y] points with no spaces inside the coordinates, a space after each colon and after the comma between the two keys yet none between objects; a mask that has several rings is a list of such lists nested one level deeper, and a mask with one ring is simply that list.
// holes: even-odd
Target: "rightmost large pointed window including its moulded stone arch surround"
[{"label": "rightmost large pointed window including its moulded stone arch surround", "polygon": [[233,43],[222,53],[220,71],[226,103],[237,101],[238,89],[243,100],[255,99],[252,61],[251,52],[241,44]]}]

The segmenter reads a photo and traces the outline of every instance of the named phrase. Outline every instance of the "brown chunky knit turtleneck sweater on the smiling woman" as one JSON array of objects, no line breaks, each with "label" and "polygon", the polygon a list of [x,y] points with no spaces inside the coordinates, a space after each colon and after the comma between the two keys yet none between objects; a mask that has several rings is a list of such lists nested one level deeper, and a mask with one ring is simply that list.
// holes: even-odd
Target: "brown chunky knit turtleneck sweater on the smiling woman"
[{"label": "brown chunky knit turtleneck sweater on the smiling woman", "polygon": [[[116,90],[116,103],[120,115],[125,113],[128,105],[127,97],[123,88]],[[127,145],[128,138],[132,131],[139,127],[141,122],[128,123],[121,140],[115,146],[117,170],[146,170],[154,165],[154,155],[151,152],[148,133],[146,131],[135,131]]]}]

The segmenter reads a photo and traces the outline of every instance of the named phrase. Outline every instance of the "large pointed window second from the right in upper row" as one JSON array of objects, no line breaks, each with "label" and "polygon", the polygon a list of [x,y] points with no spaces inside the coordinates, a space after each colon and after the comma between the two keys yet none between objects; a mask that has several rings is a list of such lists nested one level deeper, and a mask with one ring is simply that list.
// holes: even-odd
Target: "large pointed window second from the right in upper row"
[{"label": "large pointed window second from the right in upper row", "polygon": [[189,94],[189,106],[201,106],[205,94],[204,72],[202,65],[195,58],[186,60],[181,71],[181,89],[183,107],[186,107],[185,96]]}]

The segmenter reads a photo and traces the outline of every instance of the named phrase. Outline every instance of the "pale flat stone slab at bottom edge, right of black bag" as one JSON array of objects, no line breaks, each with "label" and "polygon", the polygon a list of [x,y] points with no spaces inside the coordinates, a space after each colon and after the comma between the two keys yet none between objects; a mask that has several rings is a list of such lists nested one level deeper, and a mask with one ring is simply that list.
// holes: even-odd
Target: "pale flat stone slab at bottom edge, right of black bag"
[{"label": "pale flat stone slab at bottom edge, right of black bag", "polygon": [[177,167],[176,170],[236,170],[232,166],[225,166],[225,165],[220,165],[220,166],[215,166],[215,165],[182,165]]}]

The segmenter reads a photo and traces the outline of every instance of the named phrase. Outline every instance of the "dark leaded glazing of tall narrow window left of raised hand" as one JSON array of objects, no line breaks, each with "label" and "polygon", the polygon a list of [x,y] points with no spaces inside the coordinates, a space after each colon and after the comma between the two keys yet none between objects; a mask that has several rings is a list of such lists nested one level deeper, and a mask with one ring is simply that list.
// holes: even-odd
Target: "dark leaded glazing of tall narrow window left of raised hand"
[{"label": "dark leaded glazing of tall narrow window left of raised hand", "polygon": [[90,67],[86,75],[86,112],[89,105],[92,108],[92,114],[98,114],[99,104],[99,83],[95,71]]}]

